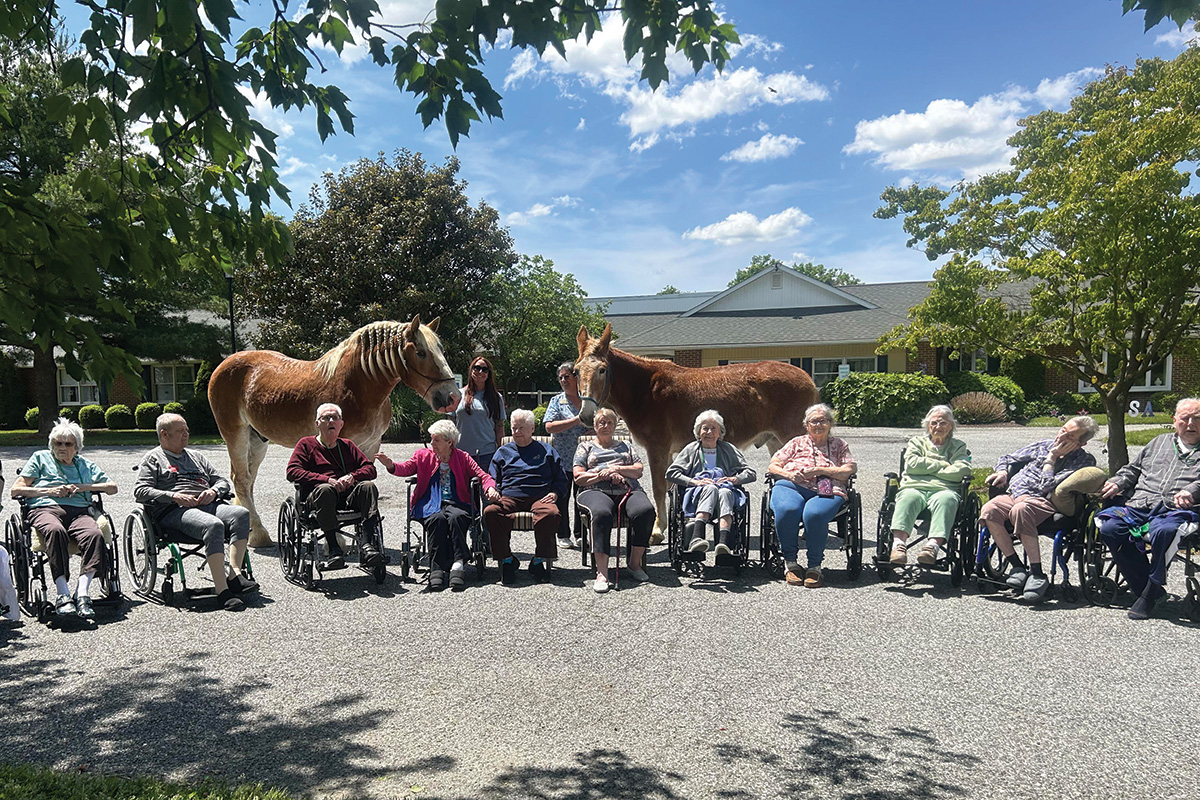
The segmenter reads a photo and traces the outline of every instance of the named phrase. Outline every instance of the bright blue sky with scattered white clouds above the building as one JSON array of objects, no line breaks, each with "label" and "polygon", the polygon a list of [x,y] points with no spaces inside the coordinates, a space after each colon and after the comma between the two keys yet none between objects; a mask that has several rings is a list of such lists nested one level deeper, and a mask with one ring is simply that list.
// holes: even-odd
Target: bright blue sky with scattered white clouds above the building
[{"label": "bright blue sky with scattered white clouds above the building", "polygon": [[[410,23],[432,2],[380,6]],[[692,76],[680,60],[655,94],[625,64],[617,24],[569,46],[565,62],[497,48],[485,70],[504,119],[476,124],[456,152],[440,122],[421,128],[390,71],[353,49],[326,65],[355,136],[322,144],[311,114],[259,115],[281,133],[294,205],[323,172],[380,151],[456,155],[469,198],[497,209],[517,251],[592,295],[721,289],[757,253],[866,282],[923,279],[936,265],[905,247],[899,221],[871,216],[887,186],[1001,167],[1020,118],[1066,108],[1105,65],[1172,58],[1190,36],[1170,23],[1142,32],[1117,0],[721,8],[743,40],[724,74]]]}]

